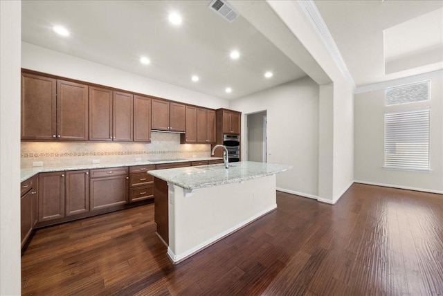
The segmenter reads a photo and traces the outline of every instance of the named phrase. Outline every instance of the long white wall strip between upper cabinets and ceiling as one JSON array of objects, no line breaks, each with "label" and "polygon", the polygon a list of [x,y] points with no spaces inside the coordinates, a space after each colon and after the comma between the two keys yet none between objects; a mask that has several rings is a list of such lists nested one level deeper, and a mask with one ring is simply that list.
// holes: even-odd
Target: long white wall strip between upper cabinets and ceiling
[{"label": "long white wall strip between upper cabinets and ceiling", "polygon": [[152,80],[26,42],[21,43],[21,67],[201,107],[218,109],[227,108],[229,105],[228,100],[183,89],[180,86]]}]

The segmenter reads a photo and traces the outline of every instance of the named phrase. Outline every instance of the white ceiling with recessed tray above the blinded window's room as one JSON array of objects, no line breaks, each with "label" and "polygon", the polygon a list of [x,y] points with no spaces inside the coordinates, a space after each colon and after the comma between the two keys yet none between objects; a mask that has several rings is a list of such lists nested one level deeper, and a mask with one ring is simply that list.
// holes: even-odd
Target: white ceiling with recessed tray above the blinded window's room
[{"label": "white ceiling with recessed tray above the blinded window's room", "polygon": [[[347,0],[315,3],[357,87],[443,68],[443,1]],[[415,18],[418,21],[413,22],[413,32],[409,21]],[[400,62],[390,67],[391,71],[386,71],[388,74],[385,73],[384,31],[395,32],[397,37],[396,40],[386,40],[386,44],[390,44],[386,62],[395,59]],[[417,31],[421,37],[410,41],[408,38]],[[392,33],[388,35],[392,36]],[[403,45],[394,48],[392,44]],[[433,59],[429,59],[430,53]],[[406,55],[410,55],[408,60],[400,59]]]}]

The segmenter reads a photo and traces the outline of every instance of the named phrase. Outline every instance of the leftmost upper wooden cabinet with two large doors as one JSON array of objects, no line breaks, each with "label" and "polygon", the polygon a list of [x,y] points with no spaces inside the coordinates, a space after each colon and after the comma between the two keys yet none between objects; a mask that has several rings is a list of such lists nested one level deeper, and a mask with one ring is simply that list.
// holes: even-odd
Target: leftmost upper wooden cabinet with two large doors
[{"label": "leftmost upper wooden cabinet with two large doors", "polygon": [[88,140],[88,86],[22,73],[21,139]]}]

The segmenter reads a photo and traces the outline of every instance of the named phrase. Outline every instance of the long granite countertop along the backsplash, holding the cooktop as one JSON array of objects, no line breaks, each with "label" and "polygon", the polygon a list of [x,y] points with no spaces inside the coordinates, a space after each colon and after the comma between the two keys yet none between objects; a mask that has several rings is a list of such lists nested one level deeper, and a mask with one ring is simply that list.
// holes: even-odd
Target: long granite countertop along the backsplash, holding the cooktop
[{"label": "long granite countertop along the backsplash, holding the cooktop", "polygon": [[219,157],[204,157],[204,158],[172,158],[164,160],[142,160],[122,163],[98,163],[90,165],[66,165],[60,167],[32,167],[29,169],[20,170],[20,182],[26,181],[39,173],[46,172],[62,172],[62,171],[75,171],[78,169],[105,169],[107,167],[132,167],[134,165],[159,165],[161,163],[186,163],[188,161],[200,161],[200,160],[215,160],[222,159]]}]

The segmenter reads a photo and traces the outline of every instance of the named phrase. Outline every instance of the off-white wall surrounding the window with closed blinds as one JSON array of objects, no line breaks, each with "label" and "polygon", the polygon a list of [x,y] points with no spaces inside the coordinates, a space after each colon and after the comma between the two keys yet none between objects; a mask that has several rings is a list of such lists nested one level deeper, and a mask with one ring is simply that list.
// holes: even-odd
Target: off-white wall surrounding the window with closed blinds
[{"label": "off-white wall surrounding the window with closed blinds", "polygon": [[[386,111],[397,111],[404,105],[386,108],[384,106],[385,91],[381,88],[355,95],[354,179],[356,182],[443,193],[442,73],[440,72],[437,77],[433,76],[430,79],[431,100],[411,104],[413,108],[431,107],[429,149],[431,172],[383,169],[384,114]],[[401,81],[396,83],[399,85]]]}]

